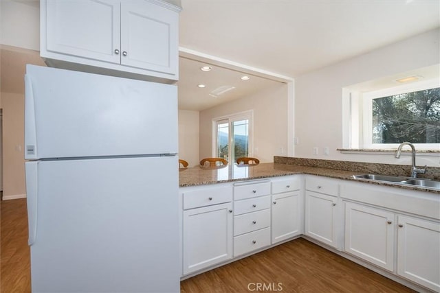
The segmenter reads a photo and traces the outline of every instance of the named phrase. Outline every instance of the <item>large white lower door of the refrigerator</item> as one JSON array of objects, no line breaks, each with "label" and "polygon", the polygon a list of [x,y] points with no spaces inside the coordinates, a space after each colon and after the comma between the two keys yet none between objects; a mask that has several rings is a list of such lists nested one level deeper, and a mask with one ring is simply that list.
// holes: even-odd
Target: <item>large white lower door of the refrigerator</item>
[{"label": "large white lower door of the refrigerator", "polygon": [[32,292],[179,292],[177,166],[26,163]]}]

